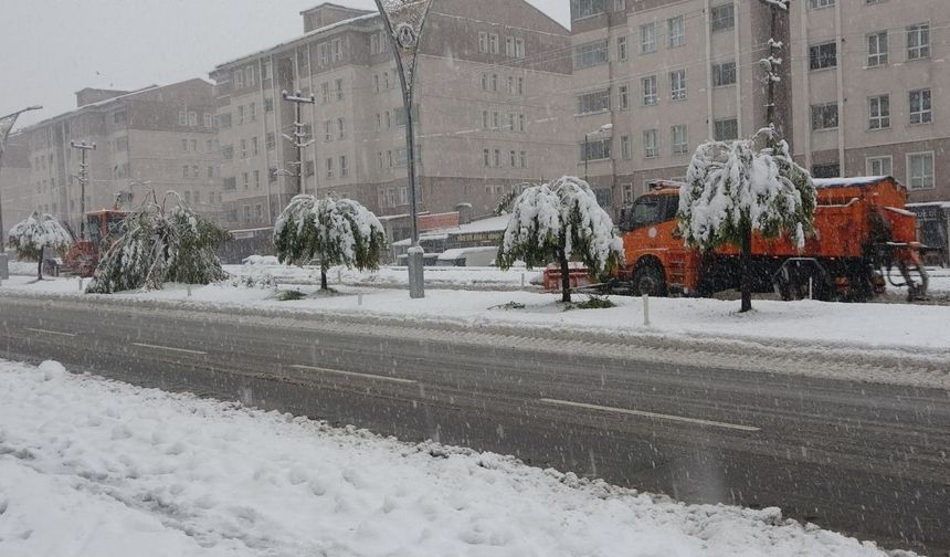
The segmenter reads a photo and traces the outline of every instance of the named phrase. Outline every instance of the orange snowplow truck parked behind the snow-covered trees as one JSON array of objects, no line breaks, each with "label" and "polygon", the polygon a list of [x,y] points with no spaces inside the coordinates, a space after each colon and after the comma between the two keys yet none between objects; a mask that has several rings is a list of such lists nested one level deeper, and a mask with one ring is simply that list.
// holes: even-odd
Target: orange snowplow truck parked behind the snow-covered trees
[{"label": "orange snowplow truck parked behind the snow-covered trees", "polygon": [[[711,296],[738,288],[739,249],[687,248],[678,231],[679,182],[656,181],[621,211],[625,266],[603,286],[633,295]],[[783,299],[866,301],[885,281],[927,292],[907,190],[890,177],[816,179],[814,234],[799,251],[788,237],[752,239],[753,290]],[[549,270],[549,274],[557,274]],[[546,278],[555,278],[546,276]],[[547,281],[546,281],[547,283]]]}]

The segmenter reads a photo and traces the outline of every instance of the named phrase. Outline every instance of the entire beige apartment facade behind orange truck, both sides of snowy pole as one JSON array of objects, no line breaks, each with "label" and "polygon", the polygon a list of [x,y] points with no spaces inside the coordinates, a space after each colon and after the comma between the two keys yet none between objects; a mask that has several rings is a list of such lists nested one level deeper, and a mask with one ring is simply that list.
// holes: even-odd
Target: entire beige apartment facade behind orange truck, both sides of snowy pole
[{"label": "entire beige apartment facade behind orange truck, both sides of snowy pole", "polygon": [[[911,201],[950,199],[943,3],[795,0],[779,18],[775,122],[815,176],[894,175]],[[576,160],[602,204],[682,178],[707,139],[766,124],[766,2],[571,0],[571,17]]]}]

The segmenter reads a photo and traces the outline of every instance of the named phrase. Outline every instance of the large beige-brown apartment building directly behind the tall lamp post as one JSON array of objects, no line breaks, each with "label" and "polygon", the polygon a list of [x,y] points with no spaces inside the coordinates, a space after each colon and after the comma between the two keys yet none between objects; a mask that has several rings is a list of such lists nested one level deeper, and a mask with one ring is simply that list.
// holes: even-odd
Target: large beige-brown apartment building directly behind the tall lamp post
[{"label": "large beige-brown apartment building directly behind the tall lamp post", "polygon": [[[271,227],[297,192],[296,107],[283,91],[316,101],[302,106],[305,192],[409,212],[405,113],[380,15],[323,3],[302,17],[303,35],[210,73],[232,230]],[[485,214],[520,183],[572,169],[572,101],[559,94],[569,51],[568,30],[524,0],[433,1],[413,107],[421,211]]]}]

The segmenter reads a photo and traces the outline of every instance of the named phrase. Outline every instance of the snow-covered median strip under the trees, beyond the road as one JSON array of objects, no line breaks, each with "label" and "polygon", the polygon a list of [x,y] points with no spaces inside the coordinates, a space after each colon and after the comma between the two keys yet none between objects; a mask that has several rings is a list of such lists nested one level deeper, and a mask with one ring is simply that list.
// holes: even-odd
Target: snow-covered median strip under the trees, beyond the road
[{"label": "snow-covered median strip under the trees, beyond the road", "polygon": [[[282,302],[276,292],[298,290],[306,297]],[[161,291],[129,292],[107,296],[112,301],[162,301],[209,304],[217,307],[266,308],[275,312],[379,316],[425,322],[443,322],[467,327],[508,325],[543,330],[581,330],[611,336],[663,336],[696,339],[741,339],[764,345],[780,343],[789,349],[810,344],[848,346],[861,349],[893,348],[929,354],[950,362],[950,306],[906,304],[842,304],[823,302],[754,301],[754,311],[738,314],[737,301],[704,298],[652,298],[650,326],[643,324],[640,298],[612,296],[616,307],[564,311],[559,296],[539,292],[428,290],[425,298],[410,299],[401,288],[337,286],[331,295],[317,286],[278,285],[245,287],[212,284],[189,288],[168,284]],[[0,294],[35,293],[84,295],[76,278],[35,282],[14,276],[3,283]],[[85,296],[92,296],[85,294]],[[585,296],[578,295],[578,299]],[[514,303],[524,307],[509,308]],[[950,364],[948,364],[950,365]]]}]

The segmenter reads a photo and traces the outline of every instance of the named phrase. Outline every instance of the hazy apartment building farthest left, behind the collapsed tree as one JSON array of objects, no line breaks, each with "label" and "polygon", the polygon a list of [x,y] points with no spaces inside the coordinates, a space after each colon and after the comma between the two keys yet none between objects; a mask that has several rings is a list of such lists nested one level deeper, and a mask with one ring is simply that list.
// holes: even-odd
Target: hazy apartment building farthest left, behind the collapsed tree
[{"label": "hazy apartment building farthest left, behind the collapsed tree", "polygon": [[[119,195],[128,206],[129,198],[135,204],[148,191],[161,201],[175,190],[199,211],[218,217],[219,148],[210,83],[190,80],[135,92],[86,88],[76,93],[76,102],[75,111],[11,136],[28,168],[2,175],[4,223],[39,210],[78,231],[82,155],[72,141],[96,146],[86,153],[87,211],[113,207]],[[4,158],[3,166],[8,164]],[[8,216],[11,197],[17,204]]]}]

